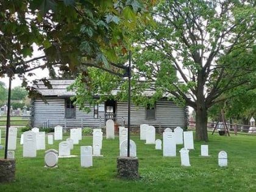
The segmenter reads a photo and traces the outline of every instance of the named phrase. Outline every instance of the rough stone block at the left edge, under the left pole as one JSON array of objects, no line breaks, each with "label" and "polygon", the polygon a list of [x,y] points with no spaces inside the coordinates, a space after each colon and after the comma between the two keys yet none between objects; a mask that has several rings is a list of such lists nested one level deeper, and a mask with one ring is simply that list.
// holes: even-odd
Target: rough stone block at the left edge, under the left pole
[{"label": "rough stone block at the left edge, under the left pole", "polygon": [[15,160],[0,158],[0,183],[15,181]]}]

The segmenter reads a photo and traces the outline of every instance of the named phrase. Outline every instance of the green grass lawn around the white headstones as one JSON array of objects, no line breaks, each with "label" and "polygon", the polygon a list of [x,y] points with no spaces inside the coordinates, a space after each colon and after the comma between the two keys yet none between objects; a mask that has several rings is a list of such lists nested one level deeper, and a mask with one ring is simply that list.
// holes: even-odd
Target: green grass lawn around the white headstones
[{"label": "green grass lawn around the white headstones", "polygon": [[[177,145],[177,157],[163,157],[162,151],[144,144],[139,135],[132,133],[131,139],[137,144],[140,180],[117,177],[118,137],[115,140],[104,137],[101,151],[104,157],[94,157],[93,167],[81,168],[80,146],[92,144],[92,137],[84,136],[71,151],[78,157],[59,158],[59,167],[55,169],[44,168],[44,150],[37,151],[36,158],[23,158],[18,138],[16,181],[0,184],[0,191],[255,191],[256,136],[225,137],[209,133],[209,138],[210,157],[201,157],[201,144],[205,143],[195,142],[195,150],[190,151],[191,166],[183,167],[179,154],[182,145]],[[54,141],[46,149],[59,150],[58,144]],[[222,150],[228,154],[226,168],[218,166],[218,152]],[[0,157],[4,157],[4,151],[0,151]]]}]

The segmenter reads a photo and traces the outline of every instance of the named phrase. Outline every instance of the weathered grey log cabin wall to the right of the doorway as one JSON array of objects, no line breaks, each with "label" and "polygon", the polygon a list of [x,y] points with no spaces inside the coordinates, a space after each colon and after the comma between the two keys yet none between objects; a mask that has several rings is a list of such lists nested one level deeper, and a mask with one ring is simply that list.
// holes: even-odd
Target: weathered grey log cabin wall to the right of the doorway
[{"label": "weathered grey log cabin wall to the right of the doorway", "polygon": [[[127,125],[127,102],[118,102],[117,104],[117,121],[122,123],[122,117]],[[137,107],[134,104],[130,106],[130,124],[131,126],[139,126],[140,124],[150,124],[155,127],[186,126],[185,108],[177,107],[170,101],[158,101],[155,108],[155,119],[146,119],[146,110],[144,107]]]}]

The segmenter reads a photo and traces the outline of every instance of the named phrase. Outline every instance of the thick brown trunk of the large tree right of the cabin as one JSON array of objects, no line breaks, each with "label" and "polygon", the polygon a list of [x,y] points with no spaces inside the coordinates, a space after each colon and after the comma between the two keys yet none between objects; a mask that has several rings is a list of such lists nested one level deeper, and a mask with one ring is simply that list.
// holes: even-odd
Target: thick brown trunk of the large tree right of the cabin
[{"label": "thick brown trunk of the large tree right of the cabin", "polygon": [[208,142],[207,108],[204,102],[197,102],[196,106],[196,140]]}]

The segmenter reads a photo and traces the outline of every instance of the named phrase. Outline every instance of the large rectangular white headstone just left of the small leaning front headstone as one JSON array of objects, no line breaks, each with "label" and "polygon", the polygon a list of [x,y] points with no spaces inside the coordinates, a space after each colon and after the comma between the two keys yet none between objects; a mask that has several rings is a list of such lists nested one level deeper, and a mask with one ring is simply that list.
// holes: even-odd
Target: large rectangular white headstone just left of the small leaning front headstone
[{"label": "large rectangular white headstone just left of the small leaning front headstone", "polygon": [[163,132],[163,157],[176,157],[176,138],[174,132]]}]

